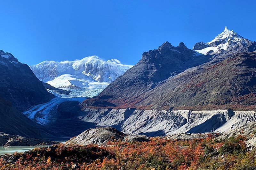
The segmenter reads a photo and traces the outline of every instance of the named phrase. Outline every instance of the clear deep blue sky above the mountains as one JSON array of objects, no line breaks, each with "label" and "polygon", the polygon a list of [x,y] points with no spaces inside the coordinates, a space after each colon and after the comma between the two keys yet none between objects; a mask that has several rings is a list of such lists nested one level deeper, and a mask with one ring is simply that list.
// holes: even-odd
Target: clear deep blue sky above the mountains
[{"label": "clear deep blue sky above the mountains", "polygon": [[0,49],[28,65],[98,55],[137,63],[164,41],[192,48],[225,26],[256,41],[255,1],[0,2]]}]

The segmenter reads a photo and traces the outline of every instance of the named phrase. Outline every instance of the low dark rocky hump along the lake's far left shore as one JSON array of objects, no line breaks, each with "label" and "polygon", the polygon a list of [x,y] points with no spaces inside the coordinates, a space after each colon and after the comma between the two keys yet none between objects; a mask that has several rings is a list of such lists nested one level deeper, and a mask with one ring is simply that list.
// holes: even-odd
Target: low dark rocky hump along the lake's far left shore
[{"label": "low dark rocky hump along the lake's far left shore", "polygon": [[30,145],[51,145],[58,144],[44,139],[34,139],[21,137],[19,135],[9,135],[0,132],[0,146],[30,146]]}]

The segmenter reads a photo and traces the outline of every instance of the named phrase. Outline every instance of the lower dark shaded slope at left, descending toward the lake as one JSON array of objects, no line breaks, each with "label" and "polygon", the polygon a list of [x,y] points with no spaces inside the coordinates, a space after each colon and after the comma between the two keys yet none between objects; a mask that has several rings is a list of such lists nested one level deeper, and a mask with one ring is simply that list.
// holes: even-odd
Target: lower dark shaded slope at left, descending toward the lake
[{"label": "lower dark shaded slope at left, descending toward the lake", "polygon": [[52,137],[0,96],[0,131],[23,137]]}]

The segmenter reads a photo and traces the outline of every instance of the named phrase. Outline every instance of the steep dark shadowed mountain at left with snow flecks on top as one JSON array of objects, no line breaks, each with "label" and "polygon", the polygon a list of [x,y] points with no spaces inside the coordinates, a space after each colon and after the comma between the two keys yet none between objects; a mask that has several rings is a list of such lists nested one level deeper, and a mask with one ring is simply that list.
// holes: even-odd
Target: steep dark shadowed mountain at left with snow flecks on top
[{"label": "steep dark shadowed mountain at left with snow flecks on top", "polygon": [[0,50],[0,95],[11,101],[20,111],[29,107],[50,101],[54,96],[27,64],[20,63],[10,53]]}]

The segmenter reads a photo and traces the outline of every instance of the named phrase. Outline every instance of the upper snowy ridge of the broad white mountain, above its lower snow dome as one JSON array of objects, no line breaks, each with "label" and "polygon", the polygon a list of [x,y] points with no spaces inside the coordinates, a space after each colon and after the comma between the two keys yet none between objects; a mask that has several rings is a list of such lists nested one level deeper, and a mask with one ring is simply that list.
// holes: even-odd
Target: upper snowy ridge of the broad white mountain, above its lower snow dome
[{"label": "upper snowy ridge of the broad white mountain, above its lower snow dome", "polygon": [[117,59],[104,61],[95,55],[81,60],[44,61],[30,66],[36,77],[46,83],[64,74],[76,76],[77,79],[111,83],[131,67],[131,65],[121,64]]}]

